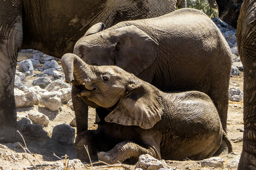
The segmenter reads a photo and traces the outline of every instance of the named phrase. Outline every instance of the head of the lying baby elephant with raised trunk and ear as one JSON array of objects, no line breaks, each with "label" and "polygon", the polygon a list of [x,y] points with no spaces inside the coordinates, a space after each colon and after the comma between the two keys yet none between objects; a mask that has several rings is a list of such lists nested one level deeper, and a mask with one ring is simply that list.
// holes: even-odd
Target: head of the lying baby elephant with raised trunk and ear
[{"label": "head of the lying baby elephant with raised trunk and ear", "polygon": [[65,81],[84,86],[77,95],[86,104],[109,109],[106,122],[150,129],[161,120],[162,97],[151,84],[117,66],[90,66],[75,54],[65,54],[61,63]]}]

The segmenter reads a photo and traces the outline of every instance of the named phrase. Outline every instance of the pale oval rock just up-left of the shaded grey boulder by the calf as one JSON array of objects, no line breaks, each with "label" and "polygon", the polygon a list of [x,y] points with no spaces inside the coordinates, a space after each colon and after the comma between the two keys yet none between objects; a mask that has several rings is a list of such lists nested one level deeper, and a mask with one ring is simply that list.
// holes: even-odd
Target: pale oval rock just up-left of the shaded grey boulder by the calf
[{"label": "pale oval rock just up-left of the shaded grey boulder by the calf", "polygon": [[30,112],[28,113],[28,118],[34,122],[34,124],[39,124],[42,126],[48,126],[49,124],[49,118],[48,116],[44,115],[40,112]]}]

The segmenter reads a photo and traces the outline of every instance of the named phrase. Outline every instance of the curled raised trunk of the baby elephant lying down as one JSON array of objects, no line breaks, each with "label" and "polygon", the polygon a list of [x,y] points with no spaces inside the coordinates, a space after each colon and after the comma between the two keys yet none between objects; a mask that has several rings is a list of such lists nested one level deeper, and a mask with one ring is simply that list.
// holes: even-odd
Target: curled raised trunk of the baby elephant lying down
[{"label": "curled raised trunk of the baby elephant lying down", "polygon": [[[94,67],[86,64],[81,58],[72,53],[64,54],[61,58],[61,64],[65,74],[65,82],[73,83],[76,81],[79,84],[89,81],[94,76]],[[74,77],[75,76],[75,77]]]}]

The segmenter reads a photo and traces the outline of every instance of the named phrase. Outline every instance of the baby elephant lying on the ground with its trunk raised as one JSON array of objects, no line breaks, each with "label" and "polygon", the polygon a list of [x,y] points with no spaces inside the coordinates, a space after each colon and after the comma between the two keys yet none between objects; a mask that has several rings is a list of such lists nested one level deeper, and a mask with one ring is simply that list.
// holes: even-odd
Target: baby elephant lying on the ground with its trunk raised
[{"label": "baby elephant lying on the ground with its trunk raised", "polygon": [[[79,159],[114,164],[137,161],[142,154],[156,159],[200,160],[209,158],[222,139],[217,110],[210,98],[198,91],[162,92],[117,66],[90,66],[75,54],[65,54],[61,63],[65,81],[96,108],[97,130],[77,135]],[[134,162],[133,162],[134,163]]]}]

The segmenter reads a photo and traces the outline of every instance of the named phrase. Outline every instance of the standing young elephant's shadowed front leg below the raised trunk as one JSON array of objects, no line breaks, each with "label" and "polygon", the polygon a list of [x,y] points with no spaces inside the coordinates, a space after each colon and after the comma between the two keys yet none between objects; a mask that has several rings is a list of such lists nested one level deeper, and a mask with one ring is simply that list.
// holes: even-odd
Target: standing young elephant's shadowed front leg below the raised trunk
[{"label": "standing young elephant's shadowed front leg below the raised trunk", "polygon": [[72,102],[76,115],[77,134],[88,129],[88,105],[77,96],[80,90],[76,86],[72,86]]}]

